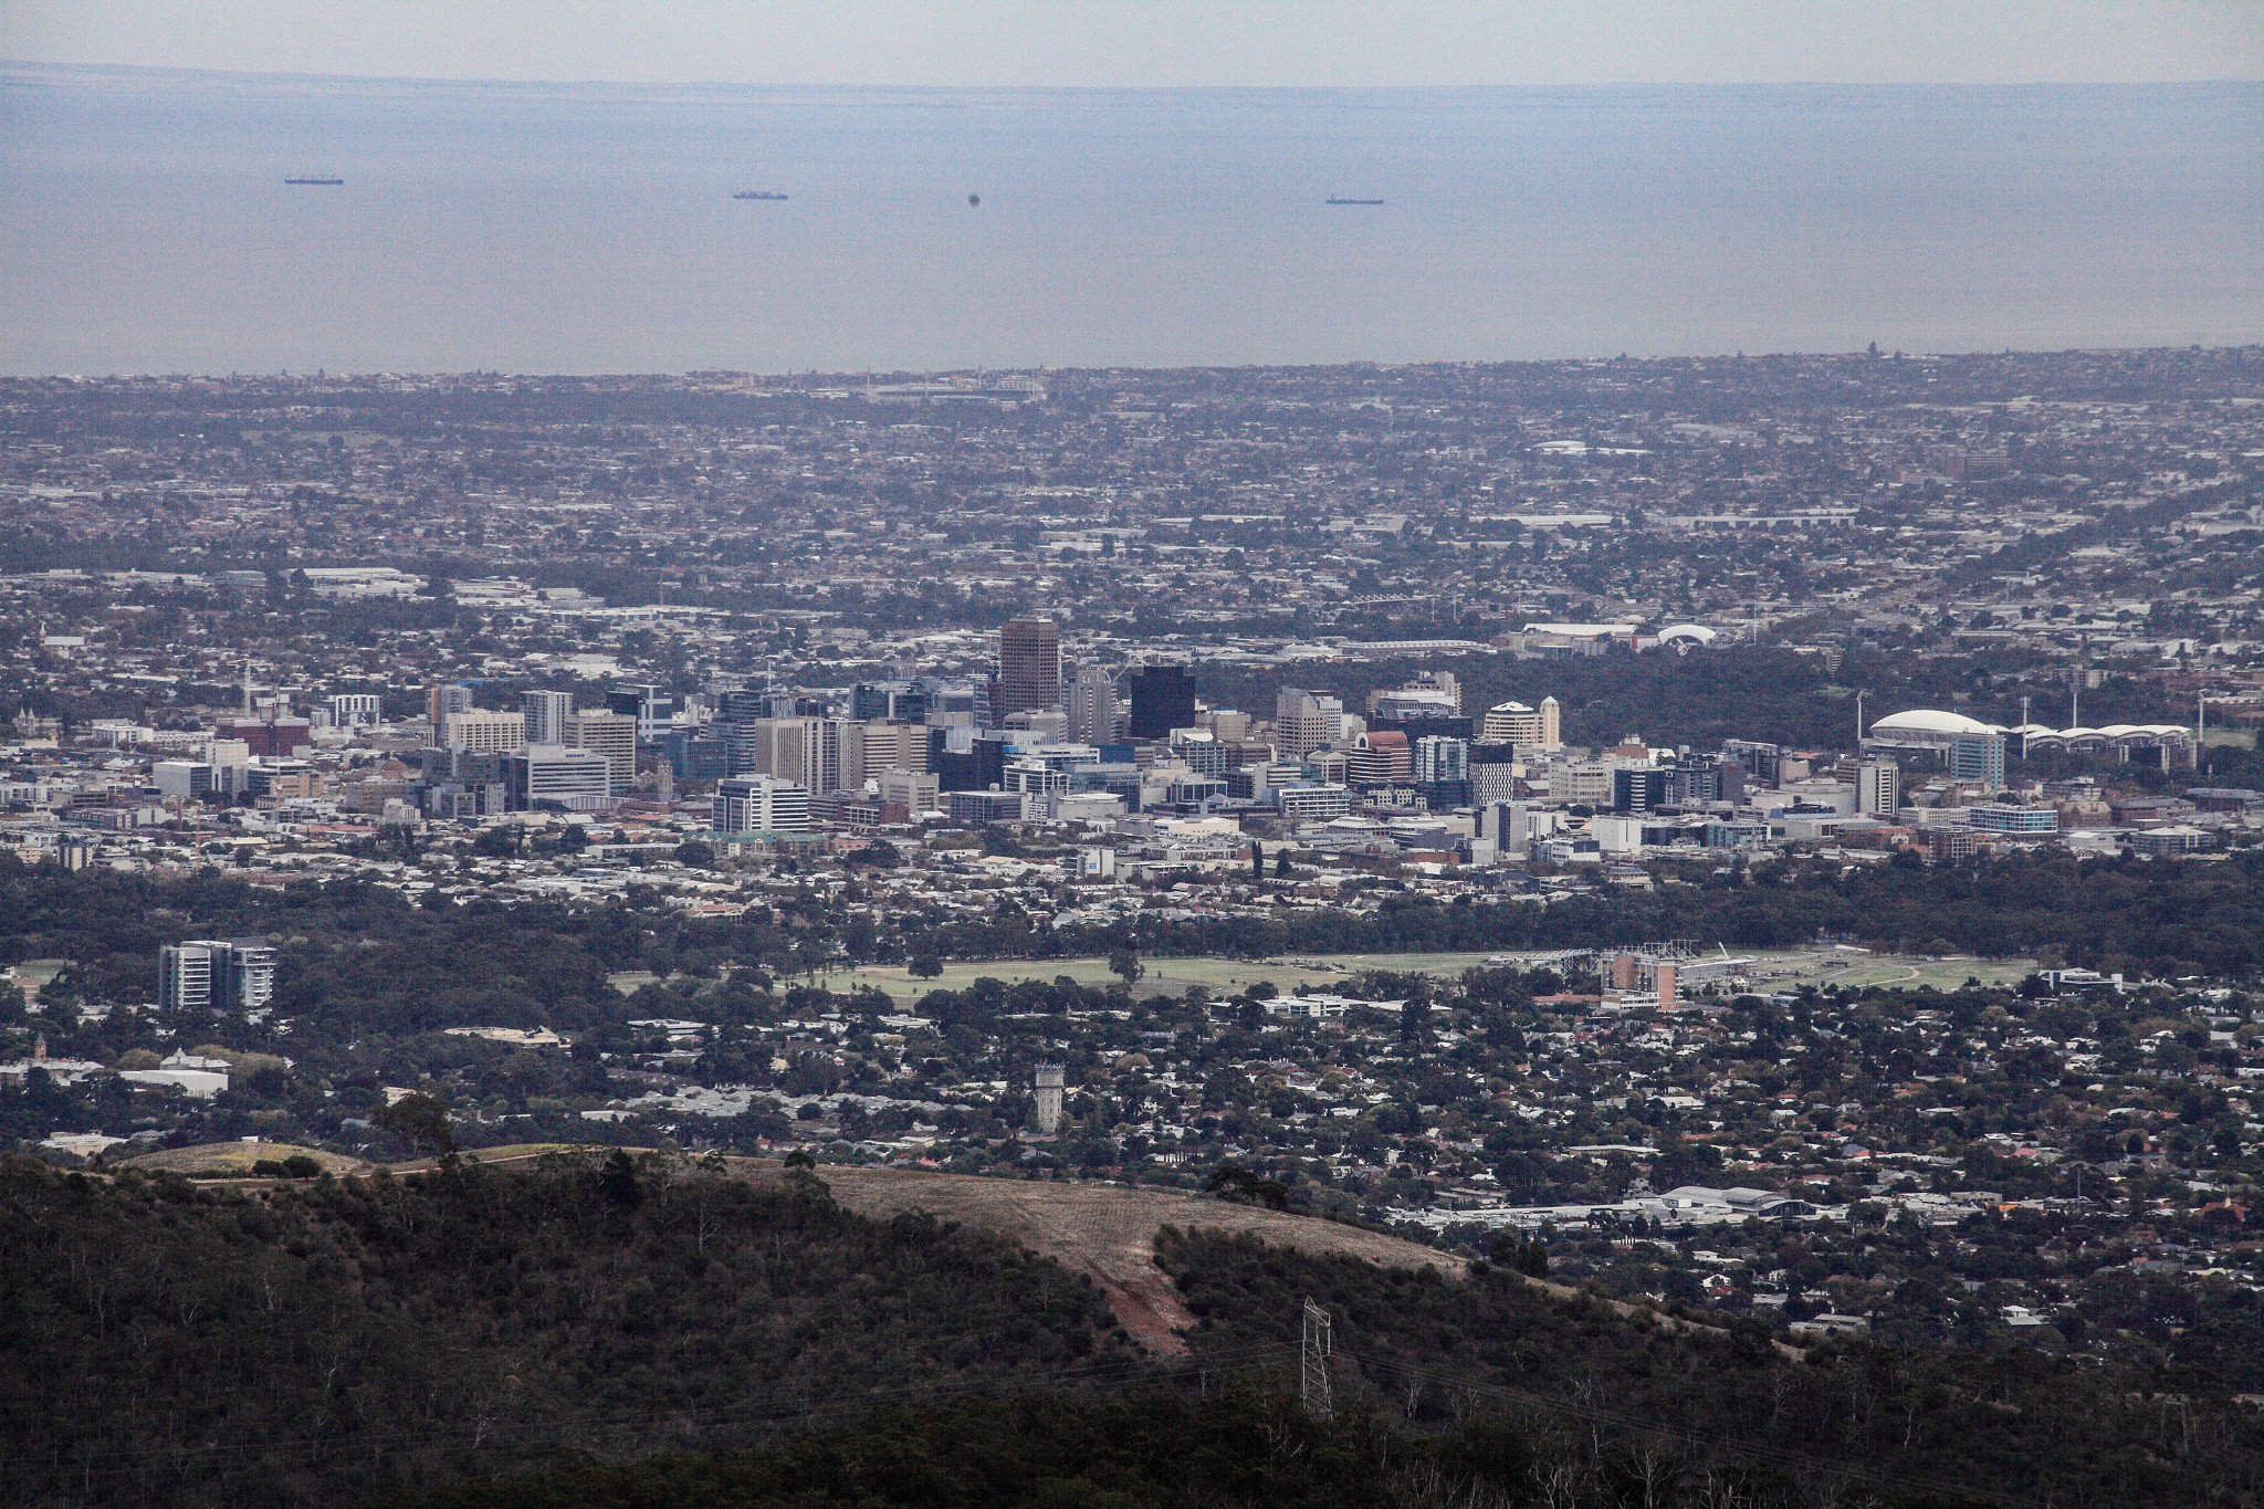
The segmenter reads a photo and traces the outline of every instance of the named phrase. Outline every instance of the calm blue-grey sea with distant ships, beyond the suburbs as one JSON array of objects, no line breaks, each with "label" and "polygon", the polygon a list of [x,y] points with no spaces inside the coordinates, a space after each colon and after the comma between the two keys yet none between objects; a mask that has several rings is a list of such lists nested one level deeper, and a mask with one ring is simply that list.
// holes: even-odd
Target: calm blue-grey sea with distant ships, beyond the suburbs
[{"label": "calm blue-grey sea with distant ships, beyond the suburbs", "polygon": [[2255,84],[822,90],[0,68],[11,373],[2259,339]]}]

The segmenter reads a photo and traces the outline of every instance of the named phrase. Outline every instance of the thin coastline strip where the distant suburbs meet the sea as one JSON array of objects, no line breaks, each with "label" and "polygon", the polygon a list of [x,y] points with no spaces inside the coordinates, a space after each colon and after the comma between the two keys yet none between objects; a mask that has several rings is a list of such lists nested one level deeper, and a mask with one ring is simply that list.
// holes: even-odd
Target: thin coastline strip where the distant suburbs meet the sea
[{"label": "thin coastline strip where the distant suburbs meet the sea", "polygon": [[1877,362],[1965,362],[1974,357],[2065,357],[2065,355],[2144,355],[2151,351],[2171,351],[2178,355],[2210,355],[2210,353],[2232,353],[2232,351],[2264,351],[2264,339],[2259,342],[2230,342],[2230,344],[2182,344],[2182,346],[2031,346],[2031,348],[1995,348],[1995,351],[1888,351],[1881,348],[1872,355],[1868,348],[1856,346],[1850,351],[1712,351],[1712,353],[1682,353],[1682,355],[1630,355],[1621,351],[1619,355],[1558,355],[1558,357],[1433,357],[1415,362],[1381,362],[1381,360],[1345,360],[1345,362],[1182,362],[1182,364],[1137,364],[1137,362],[1096,362],[1082,367],[1046,367],[1046,364],[1021,364],[1021,367],[872,367],[872,369],[779,369],[761,371],[754,367],[686,367],[675,369],[643,369],[643,371],[507,371],[500,367],[460,367],[460,369],[408,369],[408,367],[374,367],[367,371],[331,371],[328,367],[317,367],[312,371],[290,371],[290,369],[260,369],[260,371],[109,371],[109,373],[82,373],[82,371],[11,371],[0,373],[0,382],[249,382],[260,378],[303,378],[315,382],[342,382],[355,378],[514,378],[514,380],[541,380],[541,382],[584,382],[584,380],[627,380],[627,378],[817,378],[822,382],[881,382],[899,378],[960,378],[960,376],[985,376],[985,373],[1109,373],[1109,371],[1340,371],[1352,367],[1365,367],[1377,371],[1406,371],[1424,367],[1592,367],[1610,362],[1786,362],[1786,360],[1816,360],[1816,357],[1843,357],[1843,360],[1877,360]]}]

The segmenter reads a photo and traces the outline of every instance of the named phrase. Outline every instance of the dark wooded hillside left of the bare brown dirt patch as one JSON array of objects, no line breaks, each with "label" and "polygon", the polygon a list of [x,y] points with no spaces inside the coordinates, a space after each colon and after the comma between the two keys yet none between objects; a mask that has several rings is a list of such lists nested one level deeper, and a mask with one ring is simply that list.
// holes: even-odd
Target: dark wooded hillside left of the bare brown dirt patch
[{"label": "dark wooded hillside left of the bare brown dirt patch", "polygon": [[7,1158],[0,1253],[16,1504],[337,1504],[1132,1362],[998,1238],[661,1156],[258,1192]]}]

